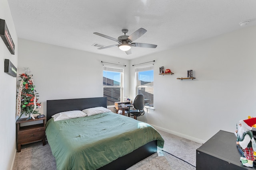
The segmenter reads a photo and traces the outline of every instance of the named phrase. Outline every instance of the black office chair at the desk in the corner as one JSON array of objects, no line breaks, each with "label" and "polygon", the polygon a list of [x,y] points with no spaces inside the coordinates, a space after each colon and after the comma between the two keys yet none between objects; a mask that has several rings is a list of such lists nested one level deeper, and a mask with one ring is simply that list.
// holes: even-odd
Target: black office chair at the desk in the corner
[{"label": "black office chair at the desk in the corner", "polygon": [[128,106],[129,110],[128,110],[128,114],[131,116],[134,116],[134,119],[137,119],[138,116],[144,115],[145,111],[144,111],[144,95],[143,94],[138,94],[136,96],[136,98],[134,99],[133,102],[133,107],[136,110],[130,110],[130,107],[132,107],[131,105]]}]

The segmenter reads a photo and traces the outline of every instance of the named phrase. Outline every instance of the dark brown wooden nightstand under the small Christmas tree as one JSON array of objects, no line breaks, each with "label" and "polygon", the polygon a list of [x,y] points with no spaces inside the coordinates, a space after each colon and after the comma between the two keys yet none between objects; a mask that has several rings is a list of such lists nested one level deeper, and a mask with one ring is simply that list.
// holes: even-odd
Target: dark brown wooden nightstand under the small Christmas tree
[{"label": "dark brown wooden nightstand under the small Christmas tree", "polygon": [[[21,150],[21,145],[25,145],[28,143],[42,140],[43,146],[45,145],[46,117],[29,119],[29,120],[26,120],[26,119],[27,118],[18,119],[16,122],[18,152],[20,152]],[[20,126],[20,123],[40,121],[40,120],[42,120],[43,123],[36,124],[36,125]]]}]

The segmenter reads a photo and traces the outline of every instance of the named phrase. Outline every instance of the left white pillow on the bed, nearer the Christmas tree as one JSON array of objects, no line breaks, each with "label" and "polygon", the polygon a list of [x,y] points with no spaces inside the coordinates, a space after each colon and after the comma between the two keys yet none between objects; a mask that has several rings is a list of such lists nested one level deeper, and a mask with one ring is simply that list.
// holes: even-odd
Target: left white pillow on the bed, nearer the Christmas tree
[{"label": "left white pillow on the bed, nearer the Christmas tree", "polygon": [[64,112],[60,112],[55,115],[52,115],[54,121],[71,119],[76,117],[85,117],[85,116],[87,116],[86,113],[82,112],[81,110],[64,111]]}]

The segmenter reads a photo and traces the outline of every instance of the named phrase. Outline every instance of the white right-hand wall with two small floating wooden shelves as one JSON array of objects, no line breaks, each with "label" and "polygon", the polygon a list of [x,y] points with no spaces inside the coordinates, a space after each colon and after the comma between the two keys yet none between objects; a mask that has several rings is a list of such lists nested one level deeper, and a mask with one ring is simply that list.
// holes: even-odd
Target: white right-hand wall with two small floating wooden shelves
[{"label": "white right-hand wall with two small floating wooden shelves", "polygon": [[[154,108],[138,117],[198,142],[219,130],[233,132],[240,119],[256,117],[256,27],[134,59],[154,63]],[[159,75],[159,67],[173,75]],[[177,80],[193,70],[194,80]],[[130,66],[130,95],[134,94]]]}]

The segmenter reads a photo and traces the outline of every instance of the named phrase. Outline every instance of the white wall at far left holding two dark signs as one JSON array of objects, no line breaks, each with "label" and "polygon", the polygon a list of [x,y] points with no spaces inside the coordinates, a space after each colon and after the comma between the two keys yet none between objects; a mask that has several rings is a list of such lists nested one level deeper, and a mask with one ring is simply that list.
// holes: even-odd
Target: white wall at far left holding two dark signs
[{"label": "white wall at far left holding two dark signs", "polygon": [[15,45],[15,55],[0,38],[0,166],[10,170],[16,153],[16,78],[4,72],[4,59],[18,66],[18,38],[7,0],[0,1],[0,19],[5,20]]}]

